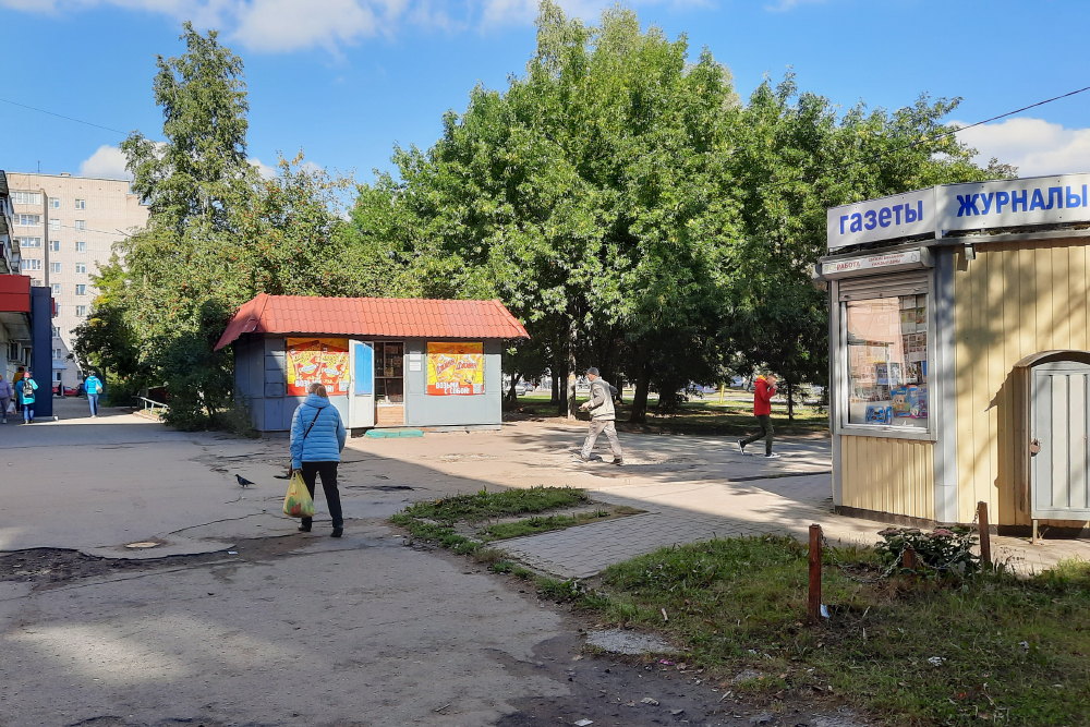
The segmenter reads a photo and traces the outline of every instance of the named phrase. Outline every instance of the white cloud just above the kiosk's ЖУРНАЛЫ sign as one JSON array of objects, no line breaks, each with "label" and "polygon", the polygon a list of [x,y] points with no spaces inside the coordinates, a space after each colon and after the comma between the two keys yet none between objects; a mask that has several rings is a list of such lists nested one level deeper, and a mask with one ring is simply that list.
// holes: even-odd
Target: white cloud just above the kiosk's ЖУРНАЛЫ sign
[{"label": "white cloud just above the kiosk's \u0416\u0423\u0420\u041d\u0410\u041b\u042b sign", "polygon": [[[954,122],[960,123],[960,122]],[[1018,167],[1019,177],[1090,172],[1090,129],[1066,129],[1044,119],[1009,119],[958,133],[980,154]]]}]

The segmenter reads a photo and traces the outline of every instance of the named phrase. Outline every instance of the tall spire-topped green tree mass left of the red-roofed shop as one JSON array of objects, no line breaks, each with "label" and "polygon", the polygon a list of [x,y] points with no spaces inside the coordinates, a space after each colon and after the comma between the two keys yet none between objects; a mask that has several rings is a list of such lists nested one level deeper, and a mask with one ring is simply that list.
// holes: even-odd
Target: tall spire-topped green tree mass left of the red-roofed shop
[{"label": "tall spire-topped green tree mass left of the red-roofed shop", "polygon": [[102,361],[123,351],[142,385],[166,385],[168,421],[197,428],[220,424],[232,407],[231,351],[215,344],[242,302],[355,286],[336,209],[344,181],[306,169],[302,155],[261,179],[246,160],[242,60],[215,32],[186,24],[181,38],[184,53],[157,60],[166,141],[133,132],[122,145],[148,223],[117,245],[123,262],[100,278],[110,295],[77,350]]}]

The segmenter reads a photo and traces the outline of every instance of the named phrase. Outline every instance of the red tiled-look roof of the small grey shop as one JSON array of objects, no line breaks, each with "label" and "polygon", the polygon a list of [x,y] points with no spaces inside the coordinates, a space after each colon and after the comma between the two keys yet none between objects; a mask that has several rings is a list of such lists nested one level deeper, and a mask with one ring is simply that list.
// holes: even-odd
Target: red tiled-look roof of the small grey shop
[{"label": "red tiled-look roof of the small grey shop", "polygon": [[231,316],[216,350],[243,334],[377,338],[530,338],[499,301],[308,298],[261,293]]}]

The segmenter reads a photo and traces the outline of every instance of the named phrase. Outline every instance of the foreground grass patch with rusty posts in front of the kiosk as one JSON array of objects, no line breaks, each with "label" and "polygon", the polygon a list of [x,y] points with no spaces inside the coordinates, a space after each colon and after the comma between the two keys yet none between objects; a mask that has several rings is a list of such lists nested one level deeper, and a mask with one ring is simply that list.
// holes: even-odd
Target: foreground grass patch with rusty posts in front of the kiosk
[{"label": "foreground grass patch with rusty posts in front of the kiosk", "polygon": [[[837,555],[860,559],[860,572],[879,568],[867,548]],[[725,684],[736,692],[833,698],[892,725],[1090,724],[1090,564],[873,585],[828,564],[832,618],[813,628],[803,626],[807,579],[807,548],[794,538],[715,540],[613,566],[608,596],[571,597],[604,620],[669,632],[687,661],[720,677],[763,675]],[[578,590],[538,589],[557,599]]]}]

